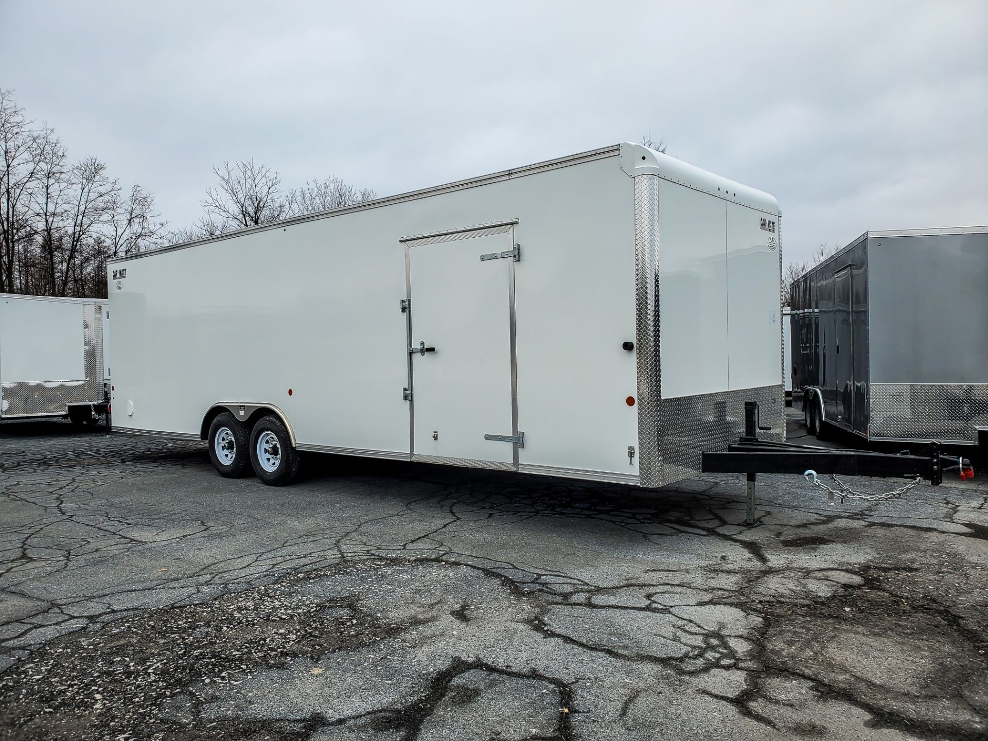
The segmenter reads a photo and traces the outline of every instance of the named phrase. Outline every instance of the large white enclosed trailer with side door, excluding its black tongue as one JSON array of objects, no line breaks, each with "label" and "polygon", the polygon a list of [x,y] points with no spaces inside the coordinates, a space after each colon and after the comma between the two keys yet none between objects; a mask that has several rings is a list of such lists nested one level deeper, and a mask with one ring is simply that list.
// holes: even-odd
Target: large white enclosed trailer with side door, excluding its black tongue
[{"label": "large white enclosed trailer with side door, excluding its black tongue", "polygon": [[115,427],[656,487],[784,436],[780,212],[623,143],[120,258]]}]

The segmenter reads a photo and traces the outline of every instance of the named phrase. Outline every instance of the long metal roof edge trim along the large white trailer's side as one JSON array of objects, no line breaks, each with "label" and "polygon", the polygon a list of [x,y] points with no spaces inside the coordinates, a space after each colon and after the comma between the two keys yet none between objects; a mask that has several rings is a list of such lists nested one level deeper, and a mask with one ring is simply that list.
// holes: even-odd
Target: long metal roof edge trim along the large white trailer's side
[{"label": "long metal roof edge trim along the large white trailer's side", "polygon": [[231,239],[233,237],[238,237],[243,234],[249,234],[253,232],[266,231],[268,229],[281,229],[286,226],[291,226],[293,224],[305,223],[307,221],[316,221],[322,218],[331,218],[332,216],[342,215],[344,213],[352,213],[355,211],[369,210],[371,208],[379,208],[380,206],[390,206],[391,204],[400,204],[406,201],[416,201],[418,199],[427,198],[429,196],[435,196],[440,193],[451,193],[453,191],[462,191],[468,188],[475,188],[476,186],[485,185],[487,183],[496,183],[501,180],[510,180],[512,178],[524,177],[526,175],[534,175],[537,172],[543,172],[545,170],[554,170],[560,167],[569,167],[570,165],[577,165],[582,162],[591,162],[597,159],[607,159],[608,157],[617,157],[620,153],[620,144],[612,144],[611,146],[601,147],[599,149],[589,149],[585,152],[579,152],[578,154],[570,154],[565,157],[558,157],[556,159],[544,160],[542,162],[536,162],[532,165],[525,165],[523,167],[514,167],[508,170],[501,170],[499,172],[490,173],[488,175],[480,175],[475,178],[467,178],[465,180],[453,181],[453,183],[446,183],[444,185],[433,186],[431,188],[423,188],[418,191],[409,191],[408,193],[400,193],[395,196],[385,196],[383,198],[374,199],[372,201],[365,201],[361,204],[354,204],[353,206],[340,206],[339,208],[330,208],[324,211],[315,211],[314,213],[305,213],[300,216],[293,216],[291,218],[284,218],[280,221],[272,221],[265,224],[257,224],[256,226],[248,226],[242,229],[234,229],[233,231],[226,231],[222,234],[211,234],[207,237],[202,237],[201,239],[194,239],[188,242],[179,242],[178,244],[169,245],[167,247],[160,247],[155,250],[147,250],[146,252],[138,252],[133,255],[121,255],[120,257],[111,258],[107,260],[107,264],[123,263],[128,260],[136,260],[141,257],[149,257],[151,255],[160,255],[164,252],[174,252],[176,250],[184,250],[188,247],[198,247],[201,244],[208,244],[210,242],[220,242],[224,239]]}]

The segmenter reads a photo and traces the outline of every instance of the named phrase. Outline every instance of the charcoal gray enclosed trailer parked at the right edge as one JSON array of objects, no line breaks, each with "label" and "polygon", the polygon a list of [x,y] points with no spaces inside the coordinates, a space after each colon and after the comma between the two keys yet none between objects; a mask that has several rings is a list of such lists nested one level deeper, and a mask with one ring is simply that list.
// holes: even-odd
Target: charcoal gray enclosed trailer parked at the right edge
[{"label": "charcoal gray enclosed trailer parked at the right edge", "polygon": [[988,226],[868,231],[792,284],[810,434],[988,443]]}]

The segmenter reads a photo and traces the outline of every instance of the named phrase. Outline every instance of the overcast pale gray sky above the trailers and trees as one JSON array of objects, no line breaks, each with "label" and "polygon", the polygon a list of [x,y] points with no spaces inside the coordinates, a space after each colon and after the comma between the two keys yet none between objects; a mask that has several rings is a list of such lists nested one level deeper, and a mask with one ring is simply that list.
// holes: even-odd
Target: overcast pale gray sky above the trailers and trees
[{"label": "overcast pale gray sky above the trailers and trees", "polygon": [[0,0],[0,87],[192,222],[210,166],[379,196],[643,133],[768,191],[788,259],[988,223],[988,2]]}]

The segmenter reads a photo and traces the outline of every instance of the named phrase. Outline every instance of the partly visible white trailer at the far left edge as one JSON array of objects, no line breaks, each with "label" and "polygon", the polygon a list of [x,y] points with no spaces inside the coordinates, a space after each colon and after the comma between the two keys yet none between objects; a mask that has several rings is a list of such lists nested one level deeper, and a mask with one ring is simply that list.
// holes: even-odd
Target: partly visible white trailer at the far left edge
[{"label": "partly visible white trailer at the far left edge", "polygon": [[0,419],[69,417],[107,410],[105,298],[0,293]]}]

